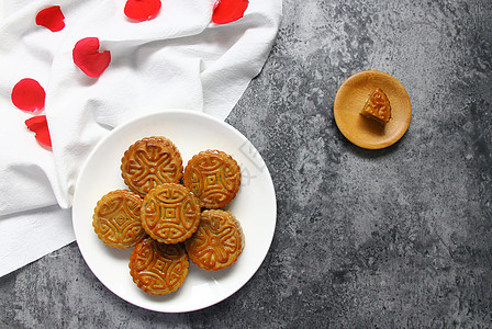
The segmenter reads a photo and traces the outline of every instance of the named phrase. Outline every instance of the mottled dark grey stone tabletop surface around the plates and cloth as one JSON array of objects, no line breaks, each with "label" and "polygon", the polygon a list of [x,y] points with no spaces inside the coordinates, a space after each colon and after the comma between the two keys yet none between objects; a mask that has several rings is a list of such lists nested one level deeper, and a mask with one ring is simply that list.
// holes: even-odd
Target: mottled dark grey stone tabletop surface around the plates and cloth
[{"label": "mottled dark grey stone tabletop surface around the plates and cloth", "polygon": [[[264,71],[227,122],[278,197],[256,275],[204,310],[158,314],[109,292],[77,245],[0,279],[0,328],[492,327],[492,2],[284,0]],[[350,75],[396,77],[396,145],[360,149],[333,118]]]}]

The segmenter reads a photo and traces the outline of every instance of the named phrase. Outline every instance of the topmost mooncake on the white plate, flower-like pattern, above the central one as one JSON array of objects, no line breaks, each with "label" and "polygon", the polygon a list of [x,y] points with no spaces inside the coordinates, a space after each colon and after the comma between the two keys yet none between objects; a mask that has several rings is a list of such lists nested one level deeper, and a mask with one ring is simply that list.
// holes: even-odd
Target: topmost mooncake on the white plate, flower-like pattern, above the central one
[{"label": "topmost mooncake on the white plate, flower-like pattern, above the central one", "polygon": [[121,159],[121,174],[130,190],[145,196],[163,183],[182,178],[182,158],[175,144],[161,136],[135,141]]}]

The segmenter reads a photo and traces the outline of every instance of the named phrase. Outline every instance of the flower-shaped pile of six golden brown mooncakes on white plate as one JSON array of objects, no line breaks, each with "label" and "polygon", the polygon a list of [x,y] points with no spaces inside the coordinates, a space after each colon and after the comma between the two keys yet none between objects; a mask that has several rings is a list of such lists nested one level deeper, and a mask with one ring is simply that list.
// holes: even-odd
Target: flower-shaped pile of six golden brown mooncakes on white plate
[{"label": "flower-shaped pile of six golden brown mooncakes on white plate", "polygon": [[223,209],[241,186],[241,168],[224,151],[204,150],[186,168],[168,138],[152,136],[131,145],[121,160],[128,190],[103,195],[92,226],[113,248],[134,248],[130,274],[153,295],[178,290],[189,259],[208,271],[231,266],[244,249],[239,222]]}]

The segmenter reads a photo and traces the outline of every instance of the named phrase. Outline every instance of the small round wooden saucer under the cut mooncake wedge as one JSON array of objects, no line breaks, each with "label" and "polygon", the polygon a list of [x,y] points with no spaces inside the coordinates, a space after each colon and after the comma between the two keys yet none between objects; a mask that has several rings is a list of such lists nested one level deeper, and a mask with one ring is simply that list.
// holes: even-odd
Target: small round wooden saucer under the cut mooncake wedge
[{"label": "small round wooden saucer under the cut mooncake wedge", "polygon": [[[367,99],[378,87],[391,103],[391,120],[384,125],[360,115]],[[405,134],[412,117],[412,104],[403,84],[377,70],[361,71],[345,80],[336,92],[333,111],[342,134],[367,149],[381,149],[396,143]]]}]

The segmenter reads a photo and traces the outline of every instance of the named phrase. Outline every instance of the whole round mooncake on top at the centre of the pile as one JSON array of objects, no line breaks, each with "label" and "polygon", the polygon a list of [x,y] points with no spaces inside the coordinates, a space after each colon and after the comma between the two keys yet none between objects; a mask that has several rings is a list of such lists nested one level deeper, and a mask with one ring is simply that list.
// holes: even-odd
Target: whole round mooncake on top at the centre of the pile
[{"label": "whole round mooncake on top at the centre of the pile", "polygon": [[141,209],[142,226],[159,242],[182,242],[200,224],[200,203],[186,186],[165,183],[150,190]]}]

